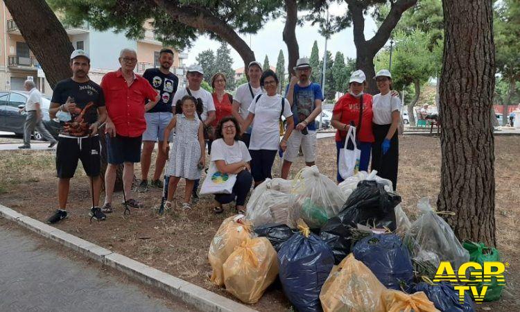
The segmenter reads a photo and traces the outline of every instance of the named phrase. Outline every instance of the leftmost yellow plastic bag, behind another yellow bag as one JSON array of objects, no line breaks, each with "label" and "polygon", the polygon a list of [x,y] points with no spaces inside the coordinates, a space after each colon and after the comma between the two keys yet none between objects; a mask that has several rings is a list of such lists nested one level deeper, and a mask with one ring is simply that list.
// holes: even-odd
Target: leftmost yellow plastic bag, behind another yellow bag
[{"label": "leftmost yellow plastic bag, behind another yellow bag", "polygon": [[222,266],[229,254],[232,254],[245,239],[252,239],[252,229],[249,223],[244,222],[241,215],[225,219],[209,245],[208,259],[213,269],[211,281],[218,286],[224,285]]}]

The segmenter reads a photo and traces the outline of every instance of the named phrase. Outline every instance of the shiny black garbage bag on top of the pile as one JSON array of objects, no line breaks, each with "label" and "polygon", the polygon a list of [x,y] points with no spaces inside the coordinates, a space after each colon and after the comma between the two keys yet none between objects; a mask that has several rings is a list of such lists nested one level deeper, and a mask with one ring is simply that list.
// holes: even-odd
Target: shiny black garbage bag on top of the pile
[{"label": "shiny black garbage bag on top of the pile", "polygon": [[347,257],[352,248],[351,228],[356,224],[396,229],[395,207],[401,196],[385,191],[383,184],[363,180],[349,196],[338,216],[329,218],[321,228],[320,236],[334,253],[334,263]]}]

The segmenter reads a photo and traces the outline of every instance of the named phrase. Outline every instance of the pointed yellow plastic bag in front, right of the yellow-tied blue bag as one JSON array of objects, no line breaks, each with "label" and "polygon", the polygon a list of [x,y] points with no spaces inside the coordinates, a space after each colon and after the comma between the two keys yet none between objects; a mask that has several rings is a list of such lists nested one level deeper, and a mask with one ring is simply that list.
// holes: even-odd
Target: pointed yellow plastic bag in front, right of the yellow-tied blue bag
[{"label": "pointed yellow plastic bag in front, right of the yellow-tied blue bag", "polygon": [[322,287],[324,312],[385,312],[381,295],[386,290],[372,271],[353,254],[332,270]]}]

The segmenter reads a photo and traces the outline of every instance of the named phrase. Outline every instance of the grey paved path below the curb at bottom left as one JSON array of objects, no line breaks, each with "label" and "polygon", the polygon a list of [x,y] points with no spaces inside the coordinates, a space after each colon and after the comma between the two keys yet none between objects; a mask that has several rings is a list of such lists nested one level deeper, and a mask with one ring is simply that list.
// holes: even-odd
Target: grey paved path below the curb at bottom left
[{"label": "grey paved path below the curb at bottom left", "polygon": [[0,220],[0,311],[187,311]]}]

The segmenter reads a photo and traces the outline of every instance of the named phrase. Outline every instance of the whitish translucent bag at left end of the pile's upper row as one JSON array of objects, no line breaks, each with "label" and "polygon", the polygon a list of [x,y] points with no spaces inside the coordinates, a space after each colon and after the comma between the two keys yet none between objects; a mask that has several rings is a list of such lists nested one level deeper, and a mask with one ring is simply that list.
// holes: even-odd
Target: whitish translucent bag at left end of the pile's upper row
[{"label": "whitish translucent bag at left end of the pile's upper row", "polygon": [[294,201],[294,195],[267,189],[257,198],[254,205],[248,203],[245,218],[250,220],[254,227],[285,224],[295,228],[297,219],[293,212]]}]

